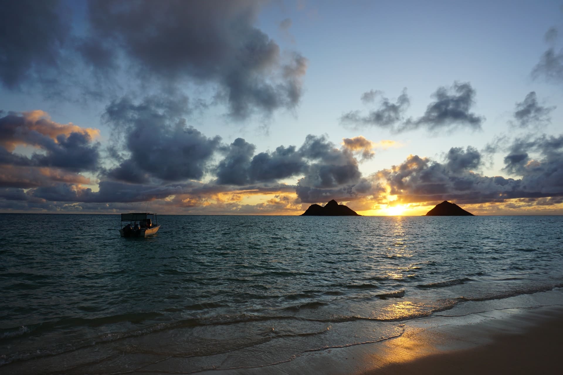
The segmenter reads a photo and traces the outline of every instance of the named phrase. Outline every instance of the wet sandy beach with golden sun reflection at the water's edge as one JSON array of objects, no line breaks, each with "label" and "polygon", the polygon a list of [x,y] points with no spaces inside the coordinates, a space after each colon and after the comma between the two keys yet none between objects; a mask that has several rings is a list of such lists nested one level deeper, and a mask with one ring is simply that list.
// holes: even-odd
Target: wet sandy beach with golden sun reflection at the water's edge
[{"label": "wet sandy beach with golden sun reflection at the water's edge", "polygon": [[[205,375],[302,374],[530,374],[558,373],[563,350],[563,305],[508,308],[463,317],[408,322],[399,337],[373,344],[304,353],[257,368]],[[476,319],[480,316],[481,319]],[[482,317],[486,316],[485,319]],[[449,324],[444,320],[453,319]]]}]

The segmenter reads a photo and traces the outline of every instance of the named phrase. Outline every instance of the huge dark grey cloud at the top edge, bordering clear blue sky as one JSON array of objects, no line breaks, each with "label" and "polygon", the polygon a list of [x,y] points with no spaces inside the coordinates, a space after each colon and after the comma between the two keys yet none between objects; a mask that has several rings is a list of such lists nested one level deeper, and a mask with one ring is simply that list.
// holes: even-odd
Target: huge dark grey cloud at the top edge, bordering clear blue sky
[{"label": "huge dark grey cloud at the top edge, bordering clear blue sky", "polygon": [[91,32],[80,51],[94,69],[125,57],[142,80],[218,84],[216,98],[234,118],[271,114],[297,105],[307,60],[298,53],[284,60],[278,44],[254,27],[260,7],[247,0],[91,1]]}]

